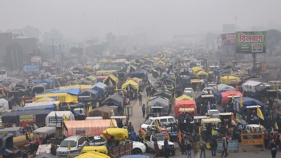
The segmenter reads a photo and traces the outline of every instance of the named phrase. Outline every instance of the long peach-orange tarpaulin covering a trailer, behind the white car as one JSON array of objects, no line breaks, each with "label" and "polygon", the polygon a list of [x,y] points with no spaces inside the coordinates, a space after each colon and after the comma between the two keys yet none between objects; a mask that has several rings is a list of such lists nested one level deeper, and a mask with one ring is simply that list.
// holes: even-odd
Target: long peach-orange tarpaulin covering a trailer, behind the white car
[{"label": "long peach-orange tarpaulin covering a trailer, behind the white car", "polygon": [[70,136],[97,136],[100,132],[110,128],[110,122],[113,121],[114,127],[117,127],[115,119],[109,120],[82,120],[82,121],[64,121],[66,137]]}]

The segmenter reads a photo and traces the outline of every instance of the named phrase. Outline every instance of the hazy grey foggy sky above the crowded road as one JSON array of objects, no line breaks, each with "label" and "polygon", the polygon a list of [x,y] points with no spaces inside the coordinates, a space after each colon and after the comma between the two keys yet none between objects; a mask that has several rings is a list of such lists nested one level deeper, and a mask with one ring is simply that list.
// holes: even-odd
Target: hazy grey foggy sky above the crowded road
[{"label": "hazy grey foggy sky above the crowded road", "polygon": [[222,32],[223,24],[235,24],[235,16],[237,28],[243,29],[237,31],[271,28],[269,24],[279,27],[280,6],[279,0],[0,0],[0,30],[29,25],[44,33],[55,28],[64,37],[81,41],[107,32],[172,39],[174,34]]}]

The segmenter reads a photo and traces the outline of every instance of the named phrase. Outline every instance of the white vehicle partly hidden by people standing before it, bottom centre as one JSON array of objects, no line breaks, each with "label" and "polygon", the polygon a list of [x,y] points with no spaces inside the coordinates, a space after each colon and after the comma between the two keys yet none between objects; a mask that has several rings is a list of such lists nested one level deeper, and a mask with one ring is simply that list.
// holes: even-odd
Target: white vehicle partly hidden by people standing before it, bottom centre
[{"label": "white vehicle partly hidden by people standing before it, bottom centre", "polygon": [[[159,151],[161,153],[164,152],[164,138],[165,138],[165,134],[163,133],[155,133],[155,135],[150,135],[150,138],[148,137],[148,139],[145,140],[145,152],[149,152],[150,149],[154,150],[154,140],[157,140],[158,143],[158,147],[159,147]],[[174,143],[168,141],[169,143],[169,147],[170,147],[170,152],[172,155],[176,154],[176,146]]]}]

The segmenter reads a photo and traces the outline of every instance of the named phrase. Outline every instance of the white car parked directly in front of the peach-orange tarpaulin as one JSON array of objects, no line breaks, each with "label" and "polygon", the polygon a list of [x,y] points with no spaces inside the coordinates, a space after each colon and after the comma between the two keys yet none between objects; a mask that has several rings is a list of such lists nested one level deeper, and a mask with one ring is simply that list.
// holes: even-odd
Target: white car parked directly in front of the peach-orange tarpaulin
[{"label": "white car parked directly in front of the peach-orange tarpaulin", "polygon": [[[70,143],[70,150],[68,144]],[[84,136],[70,136],[64,139],[57,148],[57,157],[76,157],[80,155],[80,151],[84,146],[87,146],[88,142]]]}]

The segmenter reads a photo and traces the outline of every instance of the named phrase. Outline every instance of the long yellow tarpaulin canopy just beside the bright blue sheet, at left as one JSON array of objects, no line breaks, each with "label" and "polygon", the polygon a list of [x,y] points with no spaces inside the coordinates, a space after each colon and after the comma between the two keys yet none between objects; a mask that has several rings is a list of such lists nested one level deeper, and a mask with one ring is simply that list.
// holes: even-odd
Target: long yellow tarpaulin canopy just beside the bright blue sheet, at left
[{"label": "long yellow tarpaulin canopy just beside the bright blue sheet, at left", "polygon": [[58,100],[62,103],[78,103],[77,95],[71,95],[69,93],[48,93],[48,94],[42,94],[42,95],[36,95],[35,99],[41,99],[44,97],[57,97]]}]

